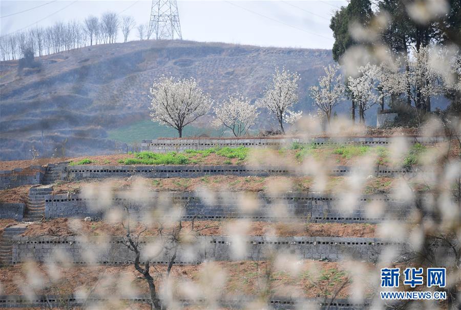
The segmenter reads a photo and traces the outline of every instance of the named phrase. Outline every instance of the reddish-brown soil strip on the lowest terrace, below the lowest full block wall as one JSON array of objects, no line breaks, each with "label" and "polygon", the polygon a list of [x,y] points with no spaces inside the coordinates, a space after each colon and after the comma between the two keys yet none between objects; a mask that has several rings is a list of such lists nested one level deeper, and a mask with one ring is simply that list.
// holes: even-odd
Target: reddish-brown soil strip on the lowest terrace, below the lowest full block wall
[{"label": "reddish-brown soil strip on the lowest terrace, below the lowest full block wall", "polygon": [[[339,291],[338,298],[347,297],[349,294],[350,283],[347,282],[347,273],[342,270],[339,263],[302,261],[297,264],[299,270],[296,273],[289,273],[286,268],[274,268],[271,273],[271,294],[276,296],[291,296],[294,292],[299,292],[301,296],[320,297],[330,296],[331,292]],[[371,264],[367,266],[371,268]],[[261,293],[261,280],[267,268],[267,262],[237,261],[237,262],[211,262],[202,263],[197,266],[173,266],[171,277],[173,285],[176,287],[173,292],[179,293],[181,283],[185,280],[192,281],[200,285],[199,292],[213,290],[216,293],[226,292],[228,295],[258,295]],[[279,267],[280,268],[280,267]],[[131,286],[136,292],[146,292],[147,286],[144,280],[133,281],[138,272],[133,265],[124,266],[55,266],[55,278],[49,276],[49,270],[45,264],[27,265],[18,264],[11,267],[0,269],[0,282],[4,294],[22,294],[21,288],[27,288],[30,271],[34,270],[35,279],[40,280],[46,289],[37,289],[37,294],[71,294],[78,288],[94,289],[94,294],[107,296],[120,292],[126,285]],[[29,271],[29,273],[28,273]],[[165,273],[165,266],[155,266],[151,268],[154,275]],[[209,287],[209,281],[213,277],[223,273],[221,281],[215,283],[213,288]],[[58,275],[59,277],[56,277]],[[156,277],[158,287],[162,285],[161,277]],[[341,289],[341,290],[340,290]]]}]

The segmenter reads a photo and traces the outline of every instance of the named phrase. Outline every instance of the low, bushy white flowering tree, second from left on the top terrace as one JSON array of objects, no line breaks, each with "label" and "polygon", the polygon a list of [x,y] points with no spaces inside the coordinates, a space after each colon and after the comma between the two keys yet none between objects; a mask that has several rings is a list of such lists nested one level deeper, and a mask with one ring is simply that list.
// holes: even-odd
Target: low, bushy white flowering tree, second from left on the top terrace
[{"label": "low, bushy white flowering tree, second from left on the top terrace", "polygon": [[258,107],[250,104],[249,100],[241,95],[229,96],[214,110],[215,126],[227,127],[236,137],[245,135],[248,129],[255,125],[255,120],[259,115]]}]

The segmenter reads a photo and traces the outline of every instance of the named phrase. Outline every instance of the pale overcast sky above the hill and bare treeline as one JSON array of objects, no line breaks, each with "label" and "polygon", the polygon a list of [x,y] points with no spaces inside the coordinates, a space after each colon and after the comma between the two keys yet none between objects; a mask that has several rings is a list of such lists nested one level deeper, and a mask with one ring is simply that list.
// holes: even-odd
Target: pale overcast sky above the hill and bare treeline
[{"label": "pale overcast sky above the hill and bare treeline", "polygon": [[[152,1],[0,1],[1,35],[111,10],[148,24]],[[183,39],[330,49],[329,19],[346,1],[178,1]],[[43,5],[43,6],[40,6]],[[37,7],[40,6],[40,7]],[[37,7],[37,8],[35,8]],[[21,11],[26,11],[18,13]],[[18,13],[18,14],[15,14]],[[6,16],[15,14],[11,16]],[[29,29],[29,28],[27,28]],[[137,39],[135,30],[130,37]],[[119,40],[122,39],[119,35]]]}]

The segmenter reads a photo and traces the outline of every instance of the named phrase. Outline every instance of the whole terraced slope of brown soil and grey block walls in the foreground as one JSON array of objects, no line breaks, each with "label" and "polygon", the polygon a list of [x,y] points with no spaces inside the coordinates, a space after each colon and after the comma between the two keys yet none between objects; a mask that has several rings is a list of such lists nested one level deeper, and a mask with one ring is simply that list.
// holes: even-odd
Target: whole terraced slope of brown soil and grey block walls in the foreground
[{"label": "whole terraced slope of brown soil and grey block walls in the foreground", "polygon": [[[459,175],[439,168],[457,167],[459,148],[449,137],[380,139],[0,162],[0,302],[405,307],[377,298],[380,268],[430,257],[453,272]],[[434,199],[446,199],[442,213]],[[435,289],[459,291],[448,286]]]}]

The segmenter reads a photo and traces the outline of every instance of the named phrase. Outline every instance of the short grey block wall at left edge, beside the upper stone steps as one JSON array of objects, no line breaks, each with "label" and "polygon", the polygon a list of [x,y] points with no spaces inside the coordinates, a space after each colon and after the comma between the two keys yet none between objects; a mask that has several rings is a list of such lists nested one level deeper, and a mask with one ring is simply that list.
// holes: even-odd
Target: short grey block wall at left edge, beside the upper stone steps
[{"label": "short grey block wall at left edge, beside the upper stone steps", "polygon": [[[33,175],[24,173],[27,170],[37,170]],[[40,184],[45,175],[46,168],[30,166],[28,168],[15,168],[14,170],[0,170],[0,190],[11,189],[22,185]]]}]

